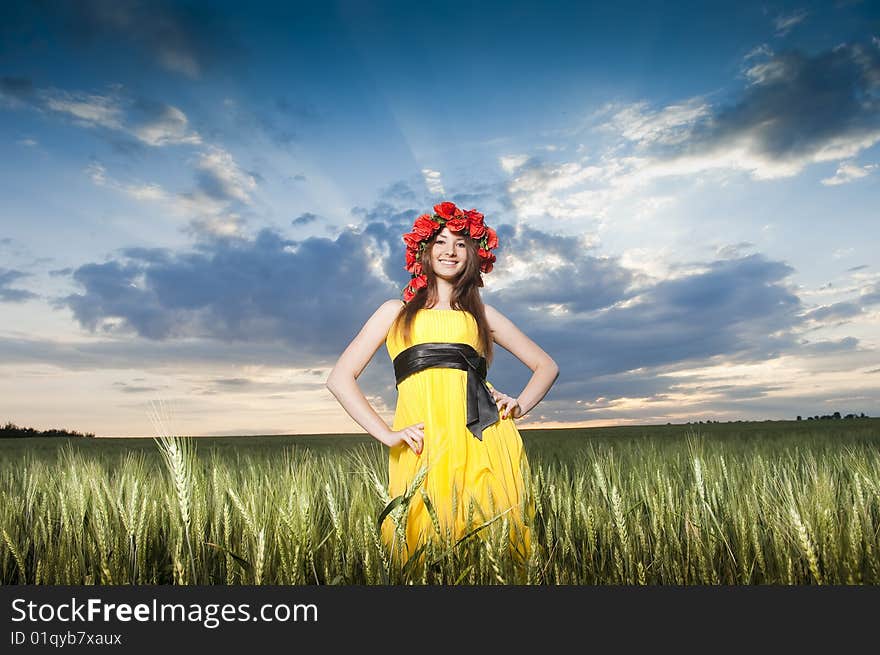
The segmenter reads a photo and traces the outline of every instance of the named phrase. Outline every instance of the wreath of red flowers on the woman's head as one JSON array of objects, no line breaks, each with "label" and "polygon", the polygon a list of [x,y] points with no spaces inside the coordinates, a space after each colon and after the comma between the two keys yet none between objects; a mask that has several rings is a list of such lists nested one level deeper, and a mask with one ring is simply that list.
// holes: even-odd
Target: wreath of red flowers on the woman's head
[{"label": "wreath of red flowers on the woman's head", "polygon": [[422,252],[428,240],[444,227],[450,232],[464,233],[477,241],[477,254],[480,257],[480,271],[490,273],[495,263],[491,252],[498,247],[498,235],[483,223],[483,215],[476,209],[462,210],[451,202],[434,205],[434,214],[422,214],[413,223],[412,232],[403,235],[406,243],[406,268],[412,279],[403,288],[403,301],[409,302],[416,291],[428,285],[428,277],[422,272]]}]

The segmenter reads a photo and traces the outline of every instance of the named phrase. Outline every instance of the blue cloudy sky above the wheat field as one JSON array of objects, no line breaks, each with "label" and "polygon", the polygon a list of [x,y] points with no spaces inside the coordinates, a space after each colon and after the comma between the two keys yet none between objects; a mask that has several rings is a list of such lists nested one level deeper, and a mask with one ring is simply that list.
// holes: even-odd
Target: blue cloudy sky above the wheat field
[{"label": "blue cloudy sky above the wheat field", "polygon": [[0,420],[360,431],[442,200],[560,363],[522,427],[880,414],[876,5],[315,4],[4,3]]}]

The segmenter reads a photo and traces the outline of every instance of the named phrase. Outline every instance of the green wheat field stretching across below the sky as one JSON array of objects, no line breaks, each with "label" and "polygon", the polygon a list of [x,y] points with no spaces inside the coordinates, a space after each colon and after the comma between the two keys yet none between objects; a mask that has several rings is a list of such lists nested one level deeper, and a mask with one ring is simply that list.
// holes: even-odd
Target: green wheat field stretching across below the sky
[{"label": "green wheat field stretching across below the sky", "polygon": [[[0,440],[13,584],[819,585],[880,582],[880,419],[521,431],[525,566],[503,515],[420,558],[377,521],[368,436]],[[419,490],[412,490],[419,493]],[[408,498],[393,504],[400,521]]]}]

